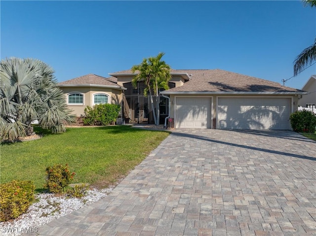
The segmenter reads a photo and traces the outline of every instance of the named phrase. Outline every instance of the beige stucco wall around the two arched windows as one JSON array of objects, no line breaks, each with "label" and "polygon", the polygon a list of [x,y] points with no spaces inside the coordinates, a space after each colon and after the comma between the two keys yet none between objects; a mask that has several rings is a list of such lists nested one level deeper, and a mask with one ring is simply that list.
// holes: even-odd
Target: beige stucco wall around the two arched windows
[{"label": "beige stucco wall around the two arched windows", "polygon": [[109,96],[109,103],[115,103],[121,105],[122,91],[112,88],[103,87],[60,87],[65,94],[65,100],[68,104],[68,95],[72,93],[80,93],[83,95],[83,105],[68,105],[73,110],[72,114],[79,117],[83,115],[84,108],[86,106],[93,106],[93,96],[95,94],[103,93]]}]

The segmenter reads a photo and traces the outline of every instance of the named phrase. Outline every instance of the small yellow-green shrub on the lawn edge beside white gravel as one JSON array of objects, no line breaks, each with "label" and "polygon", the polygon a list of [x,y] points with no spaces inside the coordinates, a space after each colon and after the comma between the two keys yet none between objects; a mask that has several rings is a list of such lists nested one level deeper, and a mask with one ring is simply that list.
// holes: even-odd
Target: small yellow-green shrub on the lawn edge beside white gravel
[{"label": "small yellow-green shrub on the lawn edge beside white gravel", "polygon": [[49,189],[49,192],[51,193],[64,193],[75,174],[75,172],[69,172],[68,164],[65,166],[59,164],[47,167],[44,188]]}]

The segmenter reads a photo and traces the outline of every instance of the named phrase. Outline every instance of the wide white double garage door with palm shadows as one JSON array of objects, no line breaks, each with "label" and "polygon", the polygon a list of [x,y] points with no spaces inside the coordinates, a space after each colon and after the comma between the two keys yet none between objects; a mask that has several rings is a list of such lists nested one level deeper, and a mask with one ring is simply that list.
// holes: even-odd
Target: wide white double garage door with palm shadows
[{"label": "wide white double garage door with palm shadows", "polygon": [[219,98],[218,129],[289,130],[290,99]]}]

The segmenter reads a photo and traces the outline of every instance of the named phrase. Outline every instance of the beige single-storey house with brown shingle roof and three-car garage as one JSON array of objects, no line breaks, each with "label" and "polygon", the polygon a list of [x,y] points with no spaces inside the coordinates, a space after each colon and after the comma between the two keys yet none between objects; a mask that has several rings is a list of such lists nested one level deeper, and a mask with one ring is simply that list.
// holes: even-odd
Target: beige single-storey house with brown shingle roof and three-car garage
[{"label": "beige single-storey house with brown shingle roof and three-car garage", "polygon": [[[174,128],[289,130],[289,116],[297,110],[299,96],[307,94],[221,69],[170,72],[170,89],[159,96],[159,123],[170,118]],[[83,114],[86,105],[115,102],[122,107],[121,118],[152,123],[151,104],[143,95],[144,82],[134,88],[131,70],[110,75],[85,75],[59,83],[59,87],[77,116]]]}]

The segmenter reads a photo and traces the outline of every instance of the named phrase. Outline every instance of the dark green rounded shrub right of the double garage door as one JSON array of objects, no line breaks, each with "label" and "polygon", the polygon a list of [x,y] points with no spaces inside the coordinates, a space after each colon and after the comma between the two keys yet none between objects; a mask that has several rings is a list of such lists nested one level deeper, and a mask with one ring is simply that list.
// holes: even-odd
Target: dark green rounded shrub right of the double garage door
[{"label": "dark green rounded shrub right of the double garage door", "polygon": [[295,132],[314,134],[316,131],[316,115],[311,111],[295,111],[290,115],[290,122]]}]

